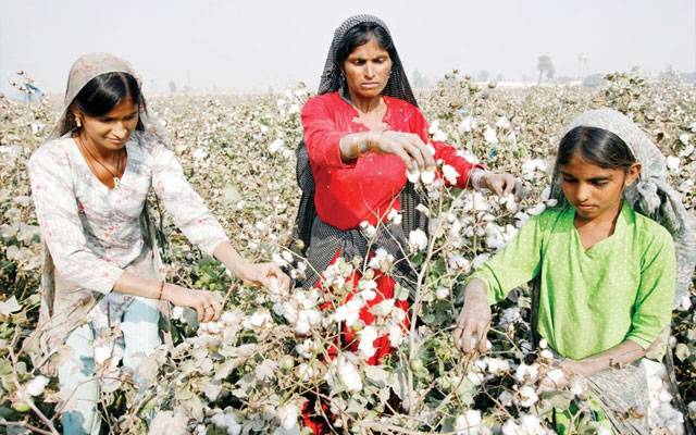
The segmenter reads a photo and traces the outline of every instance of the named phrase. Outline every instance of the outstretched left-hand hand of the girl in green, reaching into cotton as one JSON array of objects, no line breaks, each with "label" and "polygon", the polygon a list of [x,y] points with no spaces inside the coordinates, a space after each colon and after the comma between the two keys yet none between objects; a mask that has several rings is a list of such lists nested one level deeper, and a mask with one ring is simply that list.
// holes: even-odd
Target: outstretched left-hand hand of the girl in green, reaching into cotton
[{"label": "outstretched left-hand hand of the girl in green, reaching into cotton", "polygon": [[464,353],[475,350],[486,352],[486,335],[490,327],[490,307],[485,287],[476,284],[476,279],[464,289],[464,307],[455,327],[455,345]]}]

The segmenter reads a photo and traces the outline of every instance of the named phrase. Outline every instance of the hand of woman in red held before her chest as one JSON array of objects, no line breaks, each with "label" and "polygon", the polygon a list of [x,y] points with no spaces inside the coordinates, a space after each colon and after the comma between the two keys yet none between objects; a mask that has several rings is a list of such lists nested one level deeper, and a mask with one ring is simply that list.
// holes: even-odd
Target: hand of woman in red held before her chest
[{"label": "hand of woman in red held before her chest", "polygon": [[435,167],[435,159],[419,135],[393,130],[371,132],[370,135],[370,150],[397,154],[410,171]]}]

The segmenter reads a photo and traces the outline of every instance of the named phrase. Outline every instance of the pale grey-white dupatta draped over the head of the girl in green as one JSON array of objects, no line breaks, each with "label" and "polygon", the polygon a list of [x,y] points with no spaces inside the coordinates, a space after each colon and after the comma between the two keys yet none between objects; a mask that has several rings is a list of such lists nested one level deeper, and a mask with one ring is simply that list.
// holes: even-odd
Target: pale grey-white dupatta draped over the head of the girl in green
[{"label": "pale grey-white dupatta draped over the head of the girl in green", "polygon": [[[650,138],[627,116],[613,109],[596,109],[575,117],[563,135],[575,127],[606,129],[619,136],[641,163],[638,179],[624,191],[629,204],[670,232],[676,253],[675,306],[688,299],[696,264],[696,222],[684,208],[682,199],[667,181],[664,157]],[[558,169],[551,183],[551,196],[564,201]]]}]

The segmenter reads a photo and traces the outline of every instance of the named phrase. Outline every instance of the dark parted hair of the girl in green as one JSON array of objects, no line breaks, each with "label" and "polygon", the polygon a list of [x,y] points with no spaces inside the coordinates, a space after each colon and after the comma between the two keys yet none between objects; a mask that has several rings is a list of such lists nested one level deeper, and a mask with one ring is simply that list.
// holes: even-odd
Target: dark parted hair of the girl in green
[{"label": "dark parted hair of the girl in green", "polygon": [[556,167],[568,164],[576,152],[583,160],[604,169],[629,169],[636,162],[631,149],[619,136],[597,127],[575,127],[558,146]]}]

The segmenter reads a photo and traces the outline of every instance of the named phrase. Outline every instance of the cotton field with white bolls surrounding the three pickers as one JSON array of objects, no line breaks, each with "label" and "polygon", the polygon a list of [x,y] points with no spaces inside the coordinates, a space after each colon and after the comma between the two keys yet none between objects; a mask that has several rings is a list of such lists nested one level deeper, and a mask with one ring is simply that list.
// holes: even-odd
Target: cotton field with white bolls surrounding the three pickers
[{"label": "cotton field with white bolls surrounding the three pickers", "polygon": [[[473,83],[456,72],[419,94],[434,139],[456,146],[470,160],[519,177],[522,198],[445,187],[459,174],[451,166],[410,173],[424,192],[419,210],[430,232],[408,235],[409,259],[420,286],[409,310],[397,293],[372,308],[375,322],[358,318],[374,298],[375,279],[394,259],[339,261],[322,275],[334,294],[300,288],[245,287],[216,261],[203,257],[174,227],[165,210],[158,220],[167,279],[217,291],[225,312],[201,323],[174,309],[173,348],[144,361],[133,382],[120,364],[122,350],[97,349],[102,407],[114,434],[306,434],[303,411],[313,407],[337,433],[350,434],[550,434],[551,410],[571,402],[589,408],[582,380],[556,390],[562,372],[542,343],[531,345],[530,296],[512,291],[494,309],[489,350],[474,358],[453,346],[451,333],[472,269],[500,249],[530,215],[552,207],[548,198],[554,152],[563,126],[580,112],[608,105],[630,114],[658,144],[672,185],[686,208],[696,207],[696,89],[675,80],[648,82],[611,74],[604,88],[502,89]],[[162,122],[186,175],[221,221],[233,245],[250,258],[274,260],[293,277],[307,263],[289,249],[299,201],[295,149],[301,139],[299,112],[312,91],[298,86],[277,95],[150,96],[148,108]],[[22,345],[40,303],[39,231],[26,162],[58,116],[50,99],[32,104],[0,97],[0,427],[12,433],[60,432],[57,411],[65,398],[58,381],[34,368]],[[398,222],[398,212],[389,215]],[[375,228],[364,225],[364,234]],[[362,272],[358,293],[348,276]],[[693,282],[693,278],[692,278]],[[676,295],[669,347],[673,366],[650,365],[655,434],[684,433],[696,418],[696,296]],[[409,319],[409,328],[401,325]],[[353,351],[336,346],[340,324],[358,334]],[[365,361],[373,340],[387,336],[398,350],[381,365]],[[671,388],[675,380],[679,390]],[[580,413],[574,433],[605,433]]]}]

